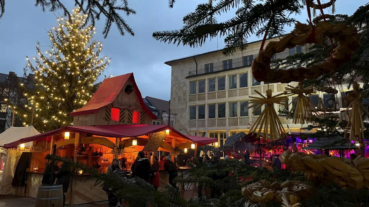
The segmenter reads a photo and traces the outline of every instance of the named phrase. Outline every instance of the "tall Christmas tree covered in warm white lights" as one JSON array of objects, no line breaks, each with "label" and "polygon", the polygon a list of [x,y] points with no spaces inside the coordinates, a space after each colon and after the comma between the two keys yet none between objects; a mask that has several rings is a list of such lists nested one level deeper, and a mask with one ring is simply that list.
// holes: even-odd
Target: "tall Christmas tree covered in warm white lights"
[{"label": "tall Christmas tree covered in warm white lights", "polygon": [[100,57],[103,43],[93,40],[95,28],[85,26],[87,15],[79,8],[68,19],[57,20],[58,26],[48,31],[50,48],[43,53],[38,42],[38,56],[26,57],[25,71],[35,74],[35,90],[25,89],[28,103],[16,108],[24,125],[33,121],[39,131],[71,125],[69,113],[89,101],[97,78],[110,63],[107,56]]}]

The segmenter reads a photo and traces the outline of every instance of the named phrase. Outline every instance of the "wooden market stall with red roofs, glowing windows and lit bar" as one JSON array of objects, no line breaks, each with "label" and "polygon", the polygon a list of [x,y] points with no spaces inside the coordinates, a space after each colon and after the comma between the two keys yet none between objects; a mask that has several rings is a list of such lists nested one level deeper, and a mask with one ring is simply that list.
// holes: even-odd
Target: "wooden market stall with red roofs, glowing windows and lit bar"
[{"label": "wooden market stall with red roofs, glowing windows and lit bar", "polygon": [[[86,106],[71,115],[74,116],[73,126],[27,137],[4,147],[46,141],[51,146],[56,145],[56,155],[72,158],[105,173],[113,158],[120,159],[130,172],[139,151],[144,151],[150,160],[158,151],[165,151],[175,160],[179,150],[186,153],[187,149],[216,141],[214,138],[185,136],[167,125],[148,125],[157,117],[144,104],[132,73],[105,79]],[[39,150],[32,154],[27,174],[29,197],[37,195],[47,153],[50,152]],[[179,173],[186,170],[185,167],[178,169]],[[85,182],[88,175],[82,171],[79,174],[72,178],[66,193],[66,204],[107,200],[101,186],[94,186],[93,178]],[[166,172],[161,173],[161,184],[168,184]],[[184,190],[183,186],[180,189]]]}]

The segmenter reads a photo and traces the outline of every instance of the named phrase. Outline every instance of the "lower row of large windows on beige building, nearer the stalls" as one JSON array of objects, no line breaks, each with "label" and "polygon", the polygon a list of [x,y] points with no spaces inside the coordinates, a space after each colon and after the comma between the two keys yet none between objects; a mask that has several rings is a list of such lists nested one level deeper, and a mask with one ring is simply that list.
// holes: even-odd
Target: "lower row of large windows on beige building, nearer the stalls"
[{"label": "lower row of large windows on beige building, nearer the stalls", "polygon": [[[246,117],[249,116],[249,104],[248,101],[239,101],[239,102],[228,102],[226,103],[210,103],[207,105],[207,118],[215,119],[225,118],[225,112],[228,108],[228,117]],[[197,105],[189,107],[189,119],[196,120],[197,119],[205,119],[205,105]],[[261,114],[261,108],[254,107],[252,109],[253,116],[259,116]],[[196,117],[197,116],[197,117]]]}]

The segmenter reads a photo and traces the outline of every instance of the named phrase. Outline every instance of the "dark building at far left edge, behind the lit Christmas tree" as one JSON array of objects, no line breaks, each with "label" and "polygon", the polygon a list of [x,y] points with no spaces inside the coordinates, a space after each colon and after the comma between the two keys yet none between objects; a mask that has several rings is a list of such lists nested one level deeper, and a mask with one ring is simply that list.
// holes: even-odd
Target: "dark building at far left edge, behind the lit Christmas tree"
[{"label": "dark building at far left edge, behind the lit Christmas tree", "polygon": [[[21,84],[26,88],[34,89],[34,74],[28,74],[27,77],[17,77],[14,72],[9,74],[0,73],[0,133],[11,127],[12,110],[8,107],[7,101],[14,105],[23,106],[27,101],[23,97]],[[22,121],[15,116],[14,126],[23,126]]]}]

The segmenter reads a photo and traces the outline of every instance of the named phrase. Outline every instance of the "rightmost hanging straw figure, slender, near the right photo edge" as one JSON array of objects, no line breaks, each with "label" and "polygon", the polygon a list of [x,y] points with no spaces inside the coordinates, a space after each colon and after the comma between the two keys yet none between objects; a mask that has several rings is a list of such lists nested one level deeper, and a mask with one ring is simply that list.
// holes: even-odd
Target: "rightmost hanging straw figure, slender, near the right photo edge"
[{"label": "rightmost hanging straw figure, slender, near the right photo edge", "polygon": [[[345,130],[345,138],[360,142],[364,138],[364,124],[361,115],[361,109],[368,115],[369,113],[361,103],[362,97],[359,87],[360,85],[355,82],[352,85],[354,92],[347,94],[345,98],[345,101],[348,105],[347,108],[352,108],[351,114],[349,113],[349,121]],[[346,113],[348,113],[348,111]],[[350,132],[348,132],[348,129],[350,129]]]}]

